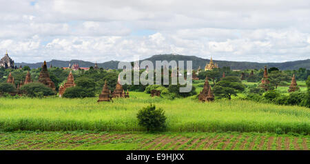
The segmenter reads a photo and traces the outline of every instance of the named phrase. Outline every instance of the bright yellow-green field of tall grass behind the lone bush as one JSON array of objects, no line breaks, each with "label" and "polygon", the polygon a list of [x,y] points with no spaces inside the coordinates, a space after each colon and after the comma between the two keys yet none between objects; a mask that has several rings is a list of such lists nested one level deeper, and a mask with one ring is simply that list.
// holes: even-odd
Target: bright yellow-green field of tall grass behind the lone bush
[{"label": "bright yellow-green field of tall grass behind the lone bush", "polygon": [[167,132],[310,133],[310,109],[240,100],[199,103],[191,97],[169,101],[130,92],[130,99],[97,103],[87,99],[0,99],[0,131],[41,130],[141,132],[136,113],[154,103],[165,110]]}]

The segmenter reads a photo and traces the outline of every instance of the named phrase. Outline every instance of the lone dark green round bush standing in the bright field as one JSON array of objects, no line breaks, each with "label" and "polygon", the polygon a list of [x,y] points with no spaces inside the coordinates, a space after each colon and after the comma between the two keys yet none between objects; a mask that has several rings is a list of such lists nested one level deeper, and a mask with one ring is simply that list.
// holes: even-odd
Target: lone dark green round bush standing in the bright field
[{"label": "lone dark green round bush standing in the bright field", "polygon": [[146,127],[147,132],[154,130],[162,130],[165,128],[166,116],[165,112],[158,108],[156,110],[155,105],[148,105],[143,107],[142,110],[138,111],[137,114],[138,124]]}]

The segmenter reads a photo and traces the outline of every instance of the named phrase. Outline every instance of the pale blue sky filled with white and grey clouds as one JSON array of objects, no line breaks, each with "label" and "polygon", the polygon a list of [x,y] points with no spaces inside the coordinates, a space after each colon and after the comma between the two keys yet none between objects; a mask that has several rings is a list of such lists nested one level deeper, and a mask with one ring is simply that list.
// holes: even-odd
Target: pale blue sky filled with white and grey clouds
[{"label": "pale blue sky filled with white and grey clouds", "polygon": [[307,0],[0,0],[0,57],[133,61],[154,54],[214,60],[310,59]]}]

